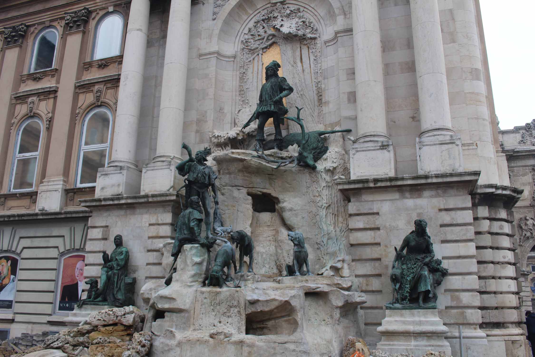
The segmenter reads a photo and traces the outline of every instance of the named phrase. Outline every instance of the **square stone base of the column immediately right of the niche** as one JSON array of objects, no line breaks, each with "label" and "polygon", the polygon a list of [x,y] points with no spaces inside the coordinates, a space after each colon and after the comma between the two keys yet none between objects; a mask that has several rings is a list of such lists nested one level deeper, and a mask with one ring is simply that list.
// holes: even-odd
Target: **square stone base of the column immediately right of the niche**
[{"label": "square stone base of the column immediately right of the niche", "polygon": [[395,176],[394,148],[391,140],[362,141],[351,145],[351,179]]}]

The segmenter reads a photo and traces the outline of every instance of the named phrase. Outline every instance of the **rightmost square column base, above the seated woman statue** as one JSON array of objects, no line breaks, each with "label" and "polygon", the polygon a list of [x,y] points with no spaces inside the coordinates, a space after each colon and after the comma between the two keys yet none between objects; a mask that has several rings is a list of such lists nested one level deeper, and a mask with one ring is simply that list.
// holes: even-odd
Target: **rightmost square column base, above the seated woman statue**
[{"label": "rightmost square column base, above the seated woman statue", "polygon": [[437,135],[416,138],[418,174],[464,171],[461,136]]}]

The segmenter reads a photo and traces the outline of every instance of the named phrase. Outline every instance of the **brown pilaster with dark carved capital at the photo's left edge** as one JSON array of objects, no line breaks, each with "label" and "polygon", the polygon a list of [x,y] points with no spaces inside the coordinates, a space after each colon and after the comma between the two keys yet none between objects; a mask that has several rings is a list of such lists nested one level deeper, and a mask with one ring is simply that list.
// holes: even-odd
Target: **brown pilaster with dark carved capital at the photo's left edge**
[{"label": "brown pilaster with dark carved capital at the photo's left edge", "polygon": [[[13,88],[19,62],[19,54],[22,48],[22,39],[26,34],[26,24],[4,27],[4,63],[0,69],[0,168],[6,167],[7,149],[10,139],[10,124],[13,119],[10,110],[11,93],[16,92]],[[4,180],[0,178],[0,192],[7,191],[2,187]]]}]

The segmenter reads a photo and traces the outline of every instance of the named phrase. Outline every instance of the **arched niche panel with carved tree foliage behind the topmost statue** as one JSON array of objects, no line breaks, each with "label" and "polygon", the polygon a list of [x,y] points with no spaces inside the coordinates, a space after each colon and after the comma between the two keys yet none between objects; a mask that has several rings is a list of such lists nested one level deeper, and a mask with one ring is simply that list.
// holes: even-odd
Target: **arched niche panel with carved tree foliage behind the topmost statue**
[{"label": "arched niche panel with carved tree foliage behind the topmost statue", "polygon": [[264,77],[262,54],[274,43],[280,48],[282,75],[294,87],[293,96],[286,98],[286,106],[304,108],[309,113],[312,118],[306,124],[307,130],[323,129],[319,30],[297,6],[277,4],[264,9],[243,36],[238,110],[254,111]]}]

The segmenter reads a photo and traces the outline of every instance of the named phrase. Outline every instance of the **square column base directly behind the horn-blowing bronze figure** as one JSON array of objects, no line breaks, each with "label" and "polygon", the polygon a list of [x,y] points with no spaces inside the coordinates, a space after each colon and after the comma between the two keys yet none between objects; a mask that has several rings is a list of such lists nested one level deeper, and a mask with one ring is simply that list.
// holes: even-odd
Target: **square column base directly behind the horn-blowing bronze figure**
[{"label": "square column base directly behind the horn-blowing bronze figure", "polygon": [[141,194],[177,191],[184,185],[177,170],[178,162],[174,160],[153,161],[143,165],[141,177]]}]

